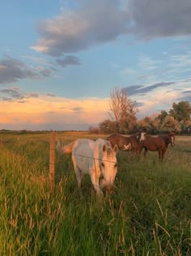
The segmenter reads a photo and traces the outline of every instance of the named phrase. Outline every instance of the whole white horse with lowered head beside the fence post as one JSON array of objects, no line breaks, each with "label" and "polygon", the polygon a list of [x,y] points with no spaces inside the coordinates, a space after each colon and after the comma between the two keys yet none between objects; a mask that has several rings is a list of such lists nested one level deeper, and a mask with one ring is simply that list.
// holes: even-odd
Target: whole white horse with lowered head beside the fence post
[{"label": "whole white horse with lowered head beside the fence post", "polygon": [[98,196],[102,197],[104,190],[106,193],[111,192],[117,174],[117,145],[112,148],[111,143],[103,139],[77,139],[64,146],[58,141],[57,150],[72,154],[80,193],[84,174],[91,177]]}]

